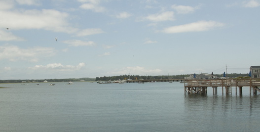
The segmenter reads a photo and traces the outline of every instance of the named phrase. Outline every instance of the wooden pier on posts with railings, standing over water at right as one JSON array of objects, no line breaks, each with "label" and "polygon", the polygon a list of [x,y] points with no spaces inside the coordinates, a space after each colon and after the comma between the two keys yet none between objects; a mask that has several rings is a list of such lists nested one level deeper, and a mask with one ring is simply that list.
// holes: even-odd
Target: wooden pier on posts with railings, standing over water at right
[{"label": "wooden pier on posts with railings, standing over water at right", "polygon": [[222,94],[232,94],[232,88],[235,88],[235,94],[237,94],[237,88],[239,88],[239,94],[242,95],[242,88],[249,87],[250,95],[251,89],[253,93],[260,92],[260,79],[214,79],[214,80],[185,80],[184,83],[185,94],[207,94],[208,87],[212,87],[213,94],[218,93],[218,87],[222,88]]}]

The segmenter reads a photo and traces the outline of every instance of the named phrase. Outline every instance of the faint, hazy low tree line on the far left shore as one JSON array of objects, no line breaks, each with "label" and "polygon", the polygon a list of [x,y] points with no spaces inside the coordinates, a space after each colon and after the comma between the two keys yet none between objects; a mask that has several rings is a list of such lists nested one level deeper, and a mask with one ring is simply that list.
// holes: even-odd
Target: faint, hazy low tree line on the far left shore
[{"label": "faint, hazy low tree line on the far left shore", "polygon": [[41,82],[79,82],[79,81],[95,81],[95,78],[79,78],[79,79],[40,79],[40,80],[0,80],[0,83],[41,83]]}]

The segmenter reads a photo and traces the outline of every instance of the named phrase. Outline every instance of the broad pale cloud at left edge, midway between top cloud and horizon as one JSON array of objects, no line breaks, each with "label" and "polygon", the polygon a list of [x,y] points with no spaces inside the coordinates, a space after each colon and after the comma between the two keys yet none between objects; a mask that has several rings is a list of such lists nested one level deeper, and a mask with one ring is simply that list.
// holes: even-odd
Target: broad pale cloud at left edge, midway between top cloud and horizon
[{"label": "broad pale cloud at left edge, midway between top cloud and horizon", "polygon": [[0,60],[7,59],[9,61],[25,60],[37,62],[39,58],[50,57],[54,54],[54,49],[49,47],[33,47],[25,49],[14,45],[0,46]]}]

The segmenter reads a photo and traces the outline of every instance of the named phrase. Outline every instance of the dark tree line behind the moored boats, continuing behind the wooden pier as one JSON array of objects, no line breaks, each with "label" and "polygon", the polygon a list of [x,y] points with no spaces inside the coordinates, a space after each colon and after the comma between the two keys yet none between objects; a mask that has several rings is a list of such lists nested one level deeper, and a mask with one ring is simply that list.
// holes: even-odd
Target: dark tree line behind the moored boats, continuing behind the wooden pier
[{"label": "dark tree line behind the moored boats, continuing behind the wooden pier", "polygon": [[[186,75],[161,75],[161,76],[139,76],[139,75],[120,75],[120,76],[104,76],[104,77],[96,77],[95,81],[114,81],[114,80],[124,80],[124,79],[131,79],[131,80],[159,80],[159,79],[184,79],[185,77],[189,77],[191,74]],[[192,74],[193,75],[193,74]],[[214,75],[218,78],[223,77],[223,74],[216,74]],[[248,74],[239,74],[239,73],[231,73],[227,74],[228,78],[247,78]]]}]

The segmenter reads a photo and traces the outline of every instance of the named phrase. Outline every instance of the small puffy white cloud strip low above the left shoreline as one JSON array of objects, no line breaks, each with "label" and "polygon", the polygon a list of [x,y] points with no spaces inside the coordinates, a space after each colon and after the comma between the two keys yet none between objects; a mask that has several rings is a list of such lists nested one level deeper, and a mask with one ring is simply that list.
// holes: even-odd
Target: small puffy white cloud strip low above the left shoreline
[{"label": "small puffy white cloud strip low above the left shoreline", "polygon": [[79,63],[77,66],[72,65],[62,65],[61,63],[52,63],[44,65],[36,65],[34,67],[29,67],[29,69],[32,70],[43,70],[43,71],[61,71],[61,72],[69,72],[69,71],[76,71],[80,70],[82,67],[84,67],[84,63]]}]

